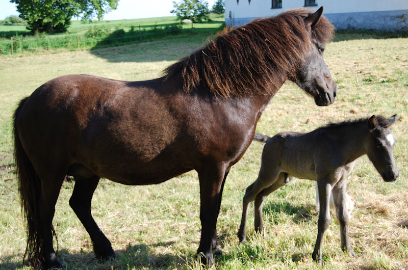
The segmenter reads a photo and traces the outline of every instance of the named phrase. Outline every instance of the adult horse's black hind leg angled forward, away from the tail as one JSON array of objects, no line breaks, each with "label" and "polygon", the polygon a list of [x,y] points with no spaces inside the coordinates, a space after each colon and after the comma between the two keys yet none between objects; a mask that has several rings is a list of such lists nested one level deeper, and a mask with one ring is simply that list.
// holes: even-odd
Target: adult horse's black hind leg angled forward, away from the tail
[{"label": "adult horse's black hind leg angled forward, away from the tail", "polygon": [[115,256],[115,252],[112,249],[111,242],[96,225],[91,215],[91,200],[98,182],[99,176],[91,178],[75,177],[75,186],[69,199],[69,205],[89,233],[95,256],[107,259]]}]

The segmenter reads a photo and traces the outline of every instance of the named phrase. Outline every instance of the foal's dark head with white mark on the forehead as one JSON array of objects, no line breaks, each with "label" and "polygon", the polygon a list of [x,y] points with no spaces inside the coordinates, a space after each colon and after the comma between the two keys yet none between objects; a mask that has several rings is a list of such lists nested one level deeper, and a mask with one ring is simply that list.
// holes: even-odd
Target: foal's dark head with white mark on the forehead
[{"label": "foal's dark head with white mark on the forehead", "polygon": [[367,155],[386,182],[395,181],[399,174],[393,155],[395,140],[389,128],[395,122],[396,116],[386,119],[373,115],[368,120],[370,134],[365,143]]}]

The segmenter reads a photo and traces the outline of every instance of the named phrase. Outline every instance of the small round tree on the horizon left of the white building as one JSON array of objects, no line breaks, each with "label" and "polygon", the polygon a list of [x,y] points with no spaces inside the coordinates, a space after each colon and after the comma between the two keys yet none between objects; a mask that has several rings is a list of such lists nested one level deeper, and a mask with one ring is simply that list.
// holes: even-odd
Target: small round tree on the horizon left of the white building
[{"label": "small round tree on the horizon left of the white building", "polygon": [[173,1],[173,7],[174,10],[170,12],[175,13],[180,20],[191,19],[193,22],[202,22],[210,19],[206,0],[181,0],[179,3]]}]

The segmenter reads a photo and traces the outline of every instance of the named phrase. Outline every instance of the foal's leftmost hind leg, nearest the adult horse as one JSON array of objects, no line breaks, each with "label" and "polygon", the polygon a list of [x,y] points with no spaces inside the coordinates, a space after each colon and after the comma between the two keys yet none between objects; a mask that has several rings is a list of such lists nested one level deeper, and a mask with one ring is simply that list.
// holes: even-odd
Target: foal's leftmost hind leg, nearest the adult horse
[{"label": "foal's leftmost hind leg, nearest the adult horse", "polygon": [[260,192],[262,192],[269,185],[276,182],[278,175],[269,171],[270,168],[265,168],[266,166],[261,166],[261,171],[255,182],[250,184],[245,191],[244,198],[242,199],[242,217],[241,225],[238,230],[239,241],[242,242],[246,237],[246,220],[248,218],[248,208],[249,203],[255,200]]}]

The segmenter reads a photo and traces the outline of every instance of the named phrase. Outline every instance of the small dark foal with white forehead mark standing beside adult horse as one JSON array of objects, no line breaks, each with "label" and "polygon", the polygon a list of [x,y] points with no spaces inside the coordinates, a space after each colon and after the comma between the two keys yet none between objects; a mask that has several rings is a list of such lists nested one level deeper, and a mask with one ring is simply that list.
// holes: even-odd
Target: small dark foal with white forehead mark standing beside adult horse
[{"label": "small dark foal with white forehead mark standing beside adult horse", "polygon": [[254,225],[255,230],[261,232],[265,198],[289,182],[291,176],[317,181],[320,210],[313,259],[321,264],[323,235],[330,223],[330,191],[333,192],[340,223],[342,250],[355,256],[348,236],[346,179],[355,159],[367,154],[384,181],[396,180],[398,168],[393,156],[395,140],[389,129],[395,119],[396,115],[388,119],[373,115],[369,119],[328,124],[309,133],[281,132],[268,139],[262,152],[259,176],[246,188],[239,240],[243,241],[246,237],[249,203],[255,200]]}]

